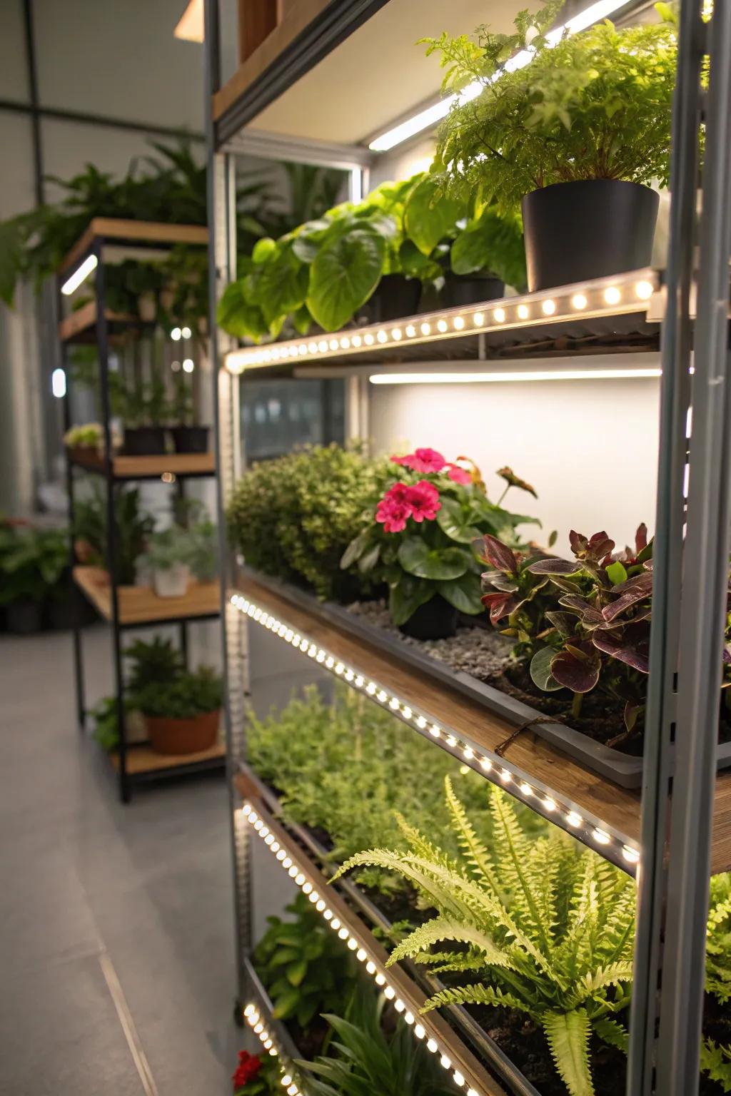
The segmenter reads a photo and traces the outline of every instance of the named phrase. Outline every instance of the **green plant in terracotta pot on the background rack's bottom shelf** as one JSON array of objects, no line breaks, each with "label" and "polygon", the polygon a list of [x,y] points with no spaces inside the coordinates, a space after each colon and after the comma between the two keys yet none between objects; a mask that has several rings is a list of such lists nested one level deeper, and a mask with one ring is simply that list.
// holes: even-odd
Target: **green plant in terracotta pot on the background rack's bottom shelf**
[{"label": "green plant in terracotta pot on the background rack's bottom shelf", "polygon": [[189,754],[208,750],[220,721],[222,685],[208,666],[151,682],[135,697],[156,753]]}]

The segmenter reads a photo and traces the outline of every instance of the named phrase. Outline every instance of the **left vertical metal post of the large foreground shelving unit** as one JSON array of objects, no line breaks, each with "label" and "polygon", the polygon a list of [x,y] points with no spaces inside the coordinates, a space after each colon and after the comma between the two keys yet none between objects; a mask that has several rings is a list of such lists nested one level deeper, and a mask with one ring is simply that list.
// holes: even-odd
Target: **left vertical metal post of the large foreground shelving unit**
[{"label": "left vertical metal post of the large foreground shelving unit", "polygon": [[214,379],[214,423],[216,431],[216,495],[220,546],[220,619],[224,680],[226,689],[226,776],[229,796],[233,913],[236,920],[237,993],[235,1016],[241,1023],[244,997],[244,956],[251,950],[249,826],[240,824],[233,774],[243,747],[243,703],[240,673],[243,647],[239,614],[228,601],[229,556],[222,515],[227,491],[235,473],[233,436],[239,423],[232,422],[231,378],[220,372],[219,335],[216,306],[225,286],[236,277],[236,174],[228,156],[216,151],[213,121],[213,95],[220,87],[220,18],[218,0],[205,0],[205,80],[204,112],[208,149],[208,296],[210,361]]}]

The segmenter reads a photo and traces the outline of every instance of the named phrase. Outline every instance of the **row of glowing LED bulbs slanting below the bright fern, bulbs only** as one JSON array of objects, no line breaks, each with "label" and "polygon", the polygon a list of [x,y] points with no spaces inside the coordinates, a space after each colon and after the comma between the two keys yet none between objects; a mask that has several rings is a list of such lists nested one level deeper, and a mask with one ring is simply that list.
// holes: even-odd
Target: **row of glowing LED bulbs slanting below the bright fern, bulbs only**
[{"label": "row of glowing LED bulbs slanting below the bright fern, bulbs only", "polygon": [[[279,842],[276,840],[275,835],[270,831],[269,826],[259,817],[251,803],[244,802],[241,808],[242,817],[249,822],[251,826],[256,831],[259,836],[262,838],[265,845],[267,845],[270,852],[279,861],[279,865],[287,872],[289,878],[300,888],[304,894],[307,894],[308,899],[315,906],[315,909],[320,913],[323,920],[329,924],[330,928],[338,933],[339,939],[347,945],[351,951],[355,952],[355,958],[358,962],[365,964],[365,970],[374,979],[375,983],[379,989],[382,990],[384,996],[388,1001],[393,1002],[393,1007],[397,1013],[406,1020],[406,1023],[412,1028],[416,1039],[424,1039],[426,1037],[426,1028],[423,1024],[416,1023],[416,1018],[412,1012],[407,1008],[407,1005],[398,996],[396,990],[392,985],[389,985],[388,978],[381,969],[369,958],[366,949],[361,945],[361,941],[353,936],[349,928],[342,924],[339,917],[335,916],[333,911],[330,909],[328,903],[323,898],[320,897],[318,891],[315,890],[312,883],[307,879],[305,872],[300,869],[299,865],[295,863],[293,857],[289,855],[286,848],[283,848]],[[254,1028],[254,1031],[256,1028]],[[263,1034],[258,1032],[258,1034]],[[266,1046],[266,1044],[265,1044]],[[439,1062],[445,1070],[452,1071],[452,1059],[448,1054],[444,1053],[444,1050],[439,1048],[436,1039],[430,1038],[426,1040],[426,1049],[431,1053],[439,1053]],[[464,1088],[466,1085],[466,1080],[464,1074],[459,1070],[452,1071],[452,1076],[459,1088]],[[289,1089],[287,1089],[289,1092]],[[294,1093],[292,1094],[294,1096]],[[480,1094],[475,1088],[467,1089],[467,1096],[480,1096]]]}]

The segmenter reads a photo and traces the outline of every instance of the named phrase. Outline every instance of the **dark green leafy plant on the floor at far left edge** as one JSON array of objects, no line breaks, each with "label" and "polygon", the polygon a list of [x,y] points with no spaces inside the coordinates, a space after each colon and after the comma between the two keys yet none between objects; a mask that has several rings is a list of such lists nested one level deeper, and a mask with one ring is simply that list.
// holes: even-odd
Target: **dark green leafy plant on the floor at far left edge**
[{"label": "dark green leafy plant on the floor at far left edge", "polygon": [[68,533],[0,518],[0,605],[62,597]]}]

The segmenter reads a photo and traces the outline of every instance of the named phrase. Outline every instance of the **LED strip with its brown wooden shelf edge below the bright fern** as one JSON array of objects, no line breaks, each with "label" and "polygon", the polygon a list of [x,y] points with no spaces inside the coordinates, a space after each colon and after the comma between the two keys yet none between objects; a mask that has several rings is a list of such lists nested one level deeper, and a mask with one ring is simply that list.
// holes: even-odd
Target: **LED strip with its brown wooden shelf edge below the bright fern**
[{"label": "LED strip with its brown wooden shelf edge below the bright fern", "polygon": [[[461,1070],[467,1070],[465,1064],[461,1065],[461,1070],[453,1068],[454,1063],[447,1053],[447,1048],[444,1046],[439,1025],[435,1024],[429,1016],[424,1016],[421,1020],[416,1018],[415,1011],[418,1011],[419,1005],[411,1002],[412,1008],[409,1008],[409,1003],[403,1001],[403,997],[408,996],[408,994],[403,990],[398,989],[399,972],[397,971],[395,975],[393,969],[386,967],[381,956],[377,955],[369,941],[364,938],[366,931],[364,931],[362,936],[357,931],[354,932],[352,927],[349,928],[343,924],[341,917],[336,915],[338,911],[331,909],[331,905],[339,904],[339,895],[333,892],[329,904],[320,894],[317,888],[321,887],[324,892],[327,880],[323,877],[318,879],[318,875],[313,872],[312,867],[309,864],[304,864],[290,846],[283,844],[285,837],[284,831],[277,825],[274,819],[262,809],[261,804],[258,804],[258,808],[254,809],[249,800],[244,801],[240,813],[259,834],[270,853],[276,857],[283,870],[299,887],[302,894],[307,894],[325,924],[338,934],[339,938],[343,944],[347,945],[351,951],[355,952],[355,958],[363,964],[366,973],[370,974],[386,998],[393,1003],[397,1013],[411,1027],[415,1038],[426,1039],[427,1050],[433,1054],[439,1055],[442,1066],[452,1074],[455,1085],[460,1089],[466,1089],[466,1096],[487,1096],[482,1087],[480,1089],[475,1087],[476,1084],[481,1084],[478,1077],[466,1076],[461,1072]],[[397,983],[396,986],[393,985],[395,982]],[[254,1027],[254,1031],[256,1031],[256,1027]],[[263,1025],[262,1030],[256,1034],[260,1038],[266,1034]],[[267,1034],[267,1039],[270,1038],[271,1036]],[[292,1081],[292,1078],[289,1080]],[[296,1096],[296,1086],[295,1091],[287,1088],[287,1092],[290,1096]]]}]

